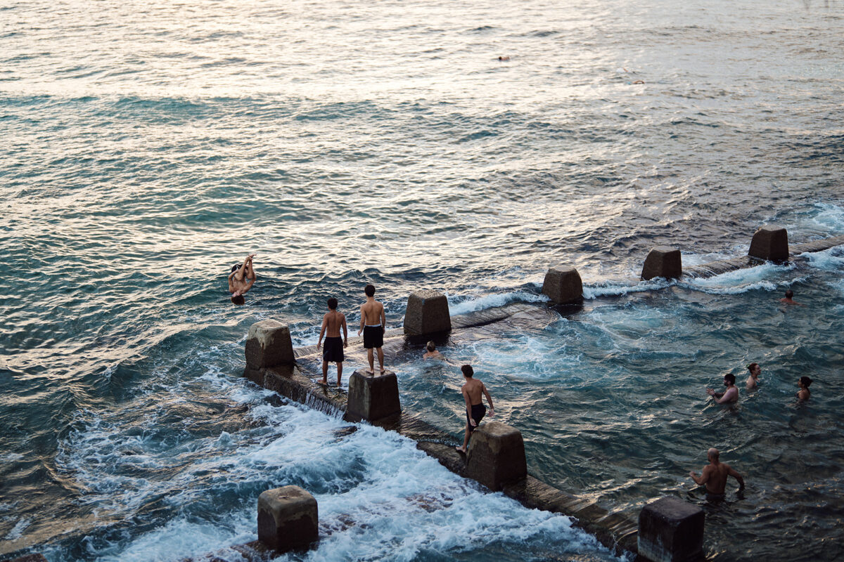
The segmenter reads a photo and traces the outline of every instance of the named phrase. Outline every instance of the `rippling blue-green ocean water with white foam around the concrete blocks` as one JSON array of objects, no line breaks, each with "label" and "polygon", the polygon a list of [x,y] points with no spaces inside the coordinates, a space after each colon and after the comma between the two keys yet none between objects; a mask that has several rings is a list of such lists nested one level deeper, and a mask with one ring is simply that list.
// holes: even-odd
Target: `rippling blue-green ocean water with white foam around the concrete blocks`
[{"label": "rippling blue-green ocean water with white foam around the concrete blocks", "polygon": [[[844,253],[636,276],[657,244],[694,265],[765,222],[844,233],[842,28],[813,0],[0,4],[0,555],[200,555],[299,484],[322,521],[303,559],[613,558],[239,377],[252,323],[311,345],[367,282],[399,326],[420,288],[543,306],[570,264],[583,308],[444,364],[408,352],[403,403],[457,442],[471,361],[533,474],[631,516],[702,502],[688,472],[719,447],[748,490],[706,507],[711,559],[841,557]],[[706,401],[749,361],[758,391]]]}]

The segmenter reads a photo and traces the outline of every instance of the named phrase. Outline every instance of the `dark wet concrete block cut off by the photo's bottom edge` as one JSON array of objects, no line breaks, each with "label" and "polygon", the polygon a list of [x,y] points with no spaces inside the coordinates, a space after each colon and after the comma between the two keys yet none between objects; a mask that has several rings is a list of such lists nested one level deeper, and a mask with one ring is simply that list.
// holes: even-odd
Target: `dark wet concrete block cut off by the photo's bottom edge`
[{"label": "dark wet concrete block cut off by the photo's bottom edge", "polygon": [[639,554],[653,562],[703,558],[703,510],[674,497],[647,504],[639,513]]}]

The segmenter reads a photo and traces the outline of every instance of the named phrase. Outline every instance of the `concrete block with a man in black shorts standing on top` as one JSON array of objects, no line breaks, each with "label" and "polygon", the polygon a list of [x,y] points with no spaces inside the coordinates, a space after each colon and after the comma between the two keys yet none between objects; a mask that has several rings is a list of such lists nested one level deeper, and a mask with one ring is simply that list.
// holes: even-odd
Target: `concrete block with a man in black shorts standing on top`
[{"label": "concrete block with a man in black shorts standing on top", "polygon": [[396,373],[386,371],[384,374],[376,372],[371,375],[363,369],[358,369],[349,377],[346,420],[380,420],[401,411]]}]

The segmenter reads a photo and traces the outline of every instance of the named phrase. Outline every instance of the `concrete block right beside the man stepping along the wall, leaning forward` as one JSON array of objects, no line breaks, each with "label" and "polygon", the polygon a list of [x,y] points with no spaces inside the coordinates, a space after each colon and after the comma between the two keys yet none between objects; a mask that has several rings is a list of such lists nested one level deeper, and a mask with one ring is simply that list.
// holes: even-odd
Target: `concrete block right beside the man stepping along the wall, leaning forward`
[{"label": "concrete block right beside the man stepping along the wall, leaning forward", "polygon": [[494,491],[527,476],[522,433],[500,421],[479,426],[466,453],[466,474]]}]

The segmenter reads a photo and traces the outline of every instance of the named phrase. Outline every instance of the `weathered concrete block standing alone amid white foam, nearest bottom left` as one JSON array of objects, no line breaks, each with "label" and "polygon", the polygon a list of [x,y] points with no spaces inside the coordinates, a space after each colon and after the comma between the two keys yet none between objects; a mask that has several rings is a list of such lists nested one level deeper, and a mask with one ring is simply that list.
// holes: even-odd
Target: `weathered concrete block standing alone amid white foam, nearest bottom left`
[{"label": "weathered concrete block standing alone amid white foam, nearest bottom left", "polygon": [[299,486],[267,490],[258,496],[258,540],[279,552],[319,538],[317,500]]}]

